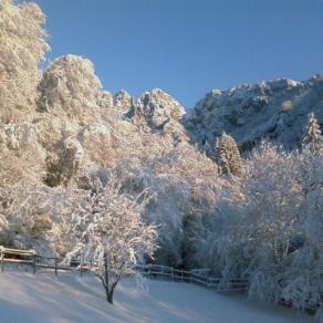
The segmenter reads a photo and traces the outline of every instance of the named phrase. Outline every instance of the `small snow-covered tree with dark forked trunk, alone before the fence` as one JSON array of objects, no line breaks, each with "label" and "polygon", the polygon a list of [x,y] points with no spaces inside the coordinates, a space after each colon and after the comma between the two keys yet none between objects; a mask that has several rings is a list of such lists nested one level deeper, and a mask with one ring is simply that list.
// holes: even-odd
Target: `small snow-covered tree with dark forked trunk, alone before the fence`
[{"label": "small snow-covered tree with dark forked trunk, alone before the fence", "polygon": [[135,273],[136,264],[152,258],[156,250],[156,228],[142,219],[144,204],[144,194],[133,200],[119,194],[115,183],[103,187],[96,179],[86,199],[74,210],[71,232],[77,244],[67,258],[79,254],[90,265],[102,281],[110,303],[118,281]]}]

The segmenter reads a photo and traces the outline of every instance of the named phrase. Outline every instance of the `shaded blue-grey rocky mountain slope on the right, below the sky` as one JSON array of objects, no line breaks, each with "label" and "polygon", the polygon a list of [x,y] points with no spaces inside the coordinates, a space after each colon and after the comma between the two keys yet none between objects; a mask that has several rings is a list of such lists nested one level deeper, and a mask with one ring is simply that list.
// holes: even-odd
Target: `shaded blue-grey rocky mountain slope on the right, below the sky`
[{"label": "shaded blue-grey rocky mountain slope on the right, below the sky", "polygon": [[292,149],[300,146],[308,114],[323,124],[323,75],[305,82],[281,79],[212,90],[185,117],[192,143],[204,150],[222,132],[232,135],[242,150],[262,138]]}]

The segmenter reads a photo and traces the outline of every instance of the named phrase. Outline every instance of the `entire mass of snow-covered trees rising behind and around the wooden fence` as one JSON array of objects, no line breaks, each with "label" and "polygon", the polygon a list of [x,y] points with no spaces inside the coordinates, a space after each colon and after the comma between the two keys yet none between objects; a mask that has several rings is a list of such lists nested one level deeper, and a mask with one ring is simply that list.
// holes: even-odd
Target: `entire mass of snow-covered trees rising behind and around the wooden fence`
[{"label": "entire mass of snow-covered trees rising behind and around the wooden fence", "polygon": [[284,107],[289,137],[302,138],[292,149],[268,136],[251,149],[221,118],[216,139],[202,136],[202,103],[186,113],[162,90],[113,95],[76,55],[46,64],[44,22],[37,4],[0,0],[0,244],[82,254],[107,296],[137,262],[155,262],[323,308],[322,105],[309,100],[298,128]]}]

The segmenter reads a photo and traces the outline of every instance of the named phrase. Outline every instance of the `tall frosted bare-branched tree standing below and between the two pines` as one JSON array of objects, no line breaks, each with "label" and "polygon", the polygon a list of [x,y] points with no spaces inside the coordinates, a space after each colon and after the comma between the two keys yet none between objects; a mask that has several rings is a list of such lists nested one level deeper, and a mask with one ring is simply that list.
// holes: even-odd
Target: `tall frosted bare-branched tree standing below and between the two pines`
[{"label": "tall frosted bare-branched tree standing below and between the two pines", "polygon": [[301,157],[263,143],[247,163],[244,237],[252,252],[250,294],[277,302],[291,253],[302,247]]}]

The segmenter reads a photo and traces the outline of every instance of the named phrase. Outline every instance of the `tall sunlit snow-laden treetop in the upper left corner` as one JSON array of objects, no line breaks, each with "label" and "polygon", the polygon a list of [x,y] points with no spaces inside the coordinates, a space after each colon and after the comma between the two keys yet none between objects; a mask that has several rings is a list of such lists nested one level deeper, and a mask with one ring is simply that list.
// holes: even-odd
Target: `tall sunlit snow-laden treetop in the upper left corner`
[{"label": "tall sunlit snow-laden treetop in the upper left corner", "polygon": [[31,108],[49,50],[42,29],[45,17],[35,3],[0,0],[0,119],[9,123]]}]

